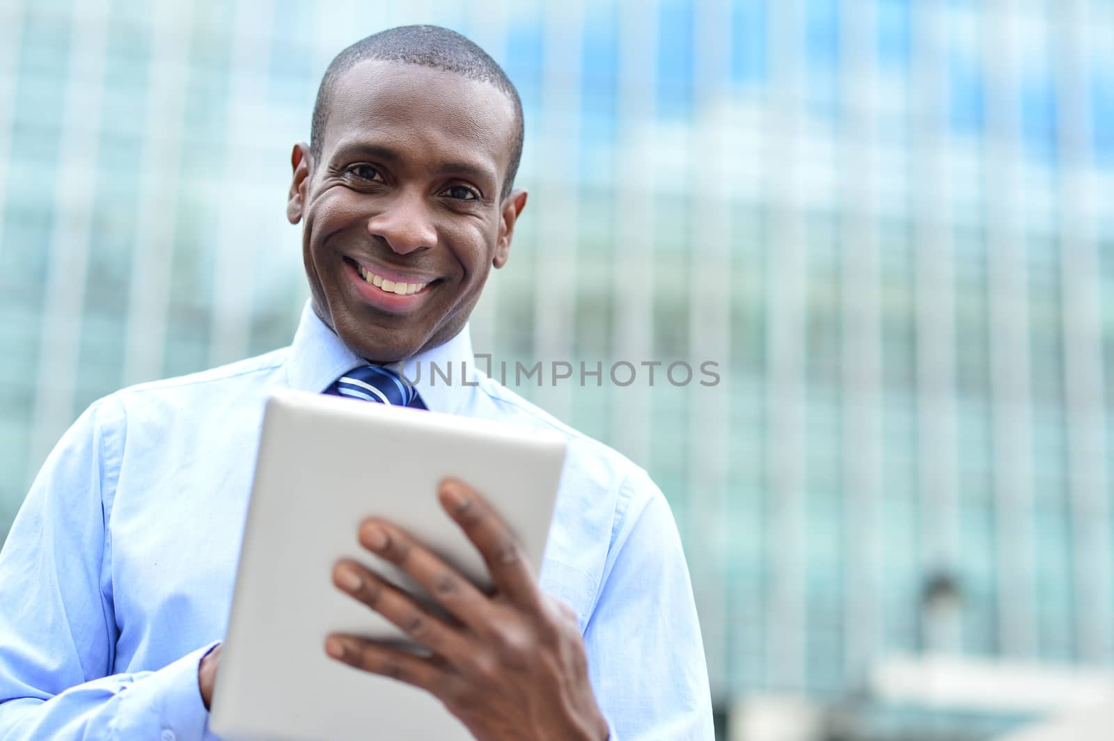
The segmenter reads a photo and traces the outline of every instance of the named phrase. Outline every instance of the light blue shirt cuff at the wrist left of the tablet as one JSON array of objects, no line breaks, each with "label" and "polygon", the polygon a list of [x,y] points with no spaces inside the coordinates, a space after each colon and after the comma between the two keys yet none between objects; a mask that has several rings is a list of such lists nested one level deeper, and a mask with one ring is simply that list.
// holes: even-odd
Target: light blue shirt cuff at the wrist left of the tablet
[{"label": "light blue shirt cuff at the wrist left of the tablet", "polygon": [[208,731],[208,711],[202,701],[197,670],[202,659],[219,641],[187,653],[127,690],[128,702],[139,702],[155,711],[160,725],[160,741],[194,741],[213,738]]}]

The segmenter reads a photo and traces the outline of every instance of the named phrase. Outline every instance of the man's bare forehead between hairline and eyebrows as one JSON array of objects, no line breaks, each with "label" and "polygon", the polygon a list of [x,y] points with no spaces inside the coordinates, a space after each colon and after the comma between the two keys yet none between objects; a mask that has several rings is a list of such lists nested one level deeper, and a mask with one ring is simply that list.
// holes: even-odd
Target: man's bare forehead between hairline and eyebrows
[{"label": "man's bare forehead between hairline and eyebrows", "polygon": [[408,159],[451,157],[501,175],[510,159],[515,109],[501,90],[456,72],[363,61],[333,83],[322,156],[388,147]]}]

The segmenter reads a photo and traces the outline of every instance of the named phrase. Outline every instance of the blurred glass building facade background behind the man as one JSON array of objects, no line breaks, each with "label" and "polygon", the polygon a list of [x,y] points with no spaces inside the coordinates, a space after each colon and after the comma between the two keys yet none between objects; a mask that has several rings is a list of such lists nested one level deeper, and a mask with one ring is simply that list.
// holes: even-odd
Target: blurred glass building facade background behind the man
[{"label": "blurred glass building facade background behind the man", "polygon": [[668,496],[722,738],[1114,701],[1111,0],[0,0],[0,535],[95,398],[289,344],[291,145],[412,22],[525,105],[477,352],[720,364],[517,391]]}]

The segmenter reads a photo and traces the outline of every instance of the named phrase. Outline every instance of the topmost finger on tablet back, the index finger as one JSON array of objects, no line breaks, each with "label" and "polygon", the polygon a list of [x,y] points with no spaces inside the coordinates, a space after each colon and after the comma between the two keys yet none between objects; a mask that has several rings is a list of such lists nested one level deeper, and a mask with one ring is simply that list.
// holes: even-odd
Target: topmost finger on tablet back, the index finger
[{"label": "topmost finger on tablet back, the index finger", "polygon": [[475,490],[452,478],[441,482],[441,505],[476,545],[491,581],[508,600],[537,609],[541,591],[510,528]]}]

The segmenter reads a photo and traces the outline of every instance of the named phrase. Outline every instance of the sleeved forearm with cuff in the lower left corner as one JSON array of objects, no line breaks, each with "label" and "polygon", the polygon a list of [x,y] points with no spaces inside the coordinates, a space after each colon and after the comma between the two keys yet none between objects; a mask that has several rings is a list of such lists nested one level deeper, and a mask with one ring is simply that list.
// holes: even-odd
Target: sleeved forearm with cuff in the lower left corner
[{"label": "sleeved forearm with cuff in the lower left corner", "polygon": [[50,698],[12,696],[0,703],[0,741],[217,741],[197,688],[209,648],[154,672],[104,676]]}]

